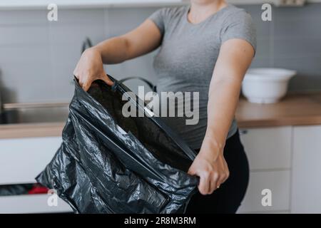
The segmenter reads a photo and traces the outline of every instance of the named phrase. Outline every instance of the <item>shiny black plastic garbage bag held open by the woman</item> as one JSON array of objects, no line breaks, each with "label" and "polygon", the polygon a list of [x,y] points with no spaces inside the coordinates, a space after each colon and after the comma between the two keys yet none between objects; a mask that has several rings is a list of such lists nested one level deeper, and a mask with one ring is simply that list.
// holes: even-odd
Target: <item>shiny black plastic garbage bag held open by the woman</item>
[{"label": "shiny black plastic garbage bag held open by the woman", "polygon": [[198,185],[187,174],[195,152],[138,100],[129,98],[145,117],[123,117],[130,90],[111,79],[88,93],[75,80],[63,143],[36,181],[76,213],[185,212]]}]

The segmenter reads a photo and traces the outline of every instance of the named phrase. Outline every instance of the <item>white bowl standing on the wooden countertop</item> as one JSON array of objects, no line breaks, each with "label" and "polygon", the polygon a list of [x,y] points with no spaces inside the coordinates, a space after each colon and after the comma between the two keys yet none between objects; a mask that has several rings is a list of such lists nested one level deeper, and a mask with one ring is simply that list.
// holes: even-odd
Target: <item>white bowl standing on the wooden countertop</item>
[{"label": "white bowl standing on the wooden countertop", "polygon": [[251,68],[245,74],[242,92],[251,103],[276,103],[287,93],[296,71],[280,68]]}]

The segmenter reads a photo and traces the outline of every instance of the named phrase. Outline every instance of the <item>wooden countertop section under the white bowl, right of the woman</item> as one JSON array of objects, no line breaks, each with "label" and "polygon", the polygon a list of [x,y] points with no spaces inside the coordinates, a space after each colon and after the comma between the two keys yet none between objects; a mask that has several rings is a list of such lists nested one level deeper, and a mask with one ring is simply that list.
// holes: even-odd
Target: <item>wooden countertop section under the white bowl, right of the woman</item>
[{"label": "wooden countertop section under the white bowl, right of the woman", "polygon": [[321,125],[321,92],[292,93],[279,103],[263,105],[240,98],[236,119],[240,128]]}]

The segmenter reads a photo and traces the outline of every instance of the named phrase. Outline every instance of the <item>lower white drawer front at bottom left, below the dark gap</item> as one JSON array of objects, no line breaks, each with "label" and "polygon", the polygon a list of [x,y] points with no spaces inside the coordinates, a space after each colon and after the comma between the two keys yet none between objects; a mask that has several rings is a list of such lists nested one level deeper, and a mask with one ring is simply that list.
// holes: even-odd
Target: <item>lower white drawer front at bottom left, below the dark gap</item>
[{"label": "lower white drawer front at bottom left, below the dark gap", "polygon": [[56,206],[49,207],[47,203],[49,197],[46,194],[0,197],[0,214],[73,212],[71,207],[60,198]]}]

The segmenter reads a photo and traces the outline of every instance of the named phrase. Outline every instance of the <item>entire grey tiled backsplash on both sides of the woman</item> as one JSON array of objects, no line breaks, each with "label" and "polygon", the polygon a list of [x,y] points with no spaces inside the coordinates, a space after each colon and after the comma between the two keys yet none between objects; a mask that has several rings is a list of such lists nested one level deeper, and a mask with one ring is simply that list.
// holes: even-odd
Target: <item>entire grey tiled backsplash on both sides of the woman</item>
[{"label": "entire grey tiled backsplash on both sides of the woman", "polygon": [[[291,90],[321,90],[321,4],[274,8],[272,21],[261,20],[258,5],[242,6],[258,27],[258,52],[253,67],[298,71]],[[0,11],[0,84],[4,103],[68,101],[72,73],[81,44],[93,43],[135,28],[156,8],[64,9],[58,21],[47,11]],[[143,76],[155,81],[154,53],[106,66],[113,76]]]}]

